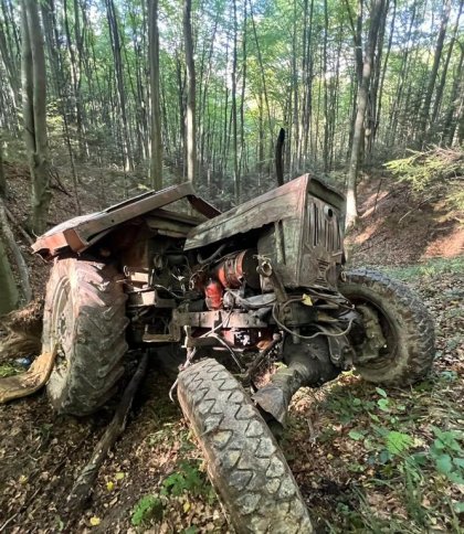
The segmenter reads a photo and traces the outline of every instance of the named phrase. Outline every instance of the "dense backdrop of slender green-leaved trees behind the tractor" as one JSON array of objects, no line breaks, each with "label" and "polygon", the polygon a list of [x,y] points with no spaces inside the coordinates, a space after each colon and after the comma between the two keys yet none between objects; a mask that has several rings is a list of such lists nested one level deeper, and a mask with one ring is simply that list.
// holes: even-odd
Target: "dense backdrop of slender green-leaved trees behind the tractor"
[{"label": "dense backdrop of slender green-leaved trees behind the tractor", "polygon": [[44,46],[50,156],[74,174],[89,161],[147,186],[189,178],[230,205],[275,185],[281,128],[286,180],[351,165],[351,188],[360,164],[464,135],[458,0],[0,3],[6,158],[23,131],[28,4]]}]

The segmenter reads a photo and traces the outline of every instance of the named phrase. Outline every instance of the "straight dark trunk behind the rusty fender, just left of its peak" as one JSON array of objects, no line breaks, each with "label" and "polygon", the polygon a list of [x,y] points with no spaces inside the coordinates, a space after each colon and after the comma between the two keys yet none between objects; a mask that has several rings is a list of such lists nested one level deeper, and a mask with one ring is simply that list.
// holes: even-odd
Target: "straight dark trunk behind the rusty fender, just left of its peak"
[{"label": "straight dark trunk behind the rusty fender, just left of its peak", "polygon": [[151,161],[150,180],[155,190],[162,189],[161,111],[159,106],[159,33],[158,0],[149,0],[149,64],[151,88]]}]

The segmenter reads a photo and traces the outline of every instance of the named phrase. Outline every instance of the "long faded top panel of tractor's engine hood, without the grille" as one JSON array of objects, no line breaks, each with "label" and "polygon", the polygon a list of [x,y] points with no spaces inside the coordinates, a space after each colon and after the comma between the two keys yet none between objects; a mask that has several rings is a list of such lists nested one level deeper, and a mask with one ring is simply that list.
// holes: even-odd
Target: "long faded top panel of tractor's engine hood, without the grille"
[{"label": "long faded top panel of tractor's engine hood, without the grille", "polygon": [[310,174],[304,174],[198,225],[190,232],[184,248],[189,250],[202,247],[276,221],[294,217],[304,210],[307,192],[318,197],[324,196],[324,200],[338,210],[341,210],[345,203],[345,199],[337,191],[312,178]]}]

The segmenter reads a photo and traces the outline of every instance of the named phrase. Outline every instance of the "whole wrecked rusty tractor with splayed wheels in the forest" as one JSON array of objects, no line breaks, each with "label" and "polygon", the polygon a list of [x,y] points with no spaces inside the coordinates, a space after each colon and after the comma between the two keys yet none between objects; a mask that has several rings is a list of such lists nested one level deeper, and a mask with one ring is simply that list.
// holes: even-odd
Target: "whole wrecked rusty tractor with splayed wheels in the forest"
[{"label": "whole wrecked rusty tractor with splayed wheels in the forest", "polygon": [[52,228],[33,246],[54,261],[43,330],[43,352],[56,354],[52,405],[91,414],[116,391],[128,349],[162,357],[173,344],[178,399],[235,528],[310,532],[270,429],[292,396],[351,367],[411,384],[434,356],[418,297],[380,273],[345,270],[342,223],[344,197],[305,174],[223,214],[182,184]]}]

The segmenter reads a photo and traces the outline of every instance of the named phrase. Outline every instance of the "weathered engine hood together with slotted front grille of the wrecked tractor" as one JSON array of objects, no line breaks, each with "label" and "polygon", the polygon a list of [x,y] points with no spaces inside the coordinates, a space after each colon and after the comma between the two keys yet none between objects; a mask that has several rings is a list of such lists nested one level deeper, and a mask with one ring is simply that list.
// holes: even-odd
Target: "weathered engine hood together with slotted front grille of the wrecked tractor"
[{"label": "weathered engine hood together with slotted front grille of the wrecked tractor", "polygon": [[[257,255],[267,258],[285,288],[336,289],[342,257],[345,200],[304,174],[192,228],[186,249],[262,228]],[[264,291],[275,290],[263,276]]]}]

